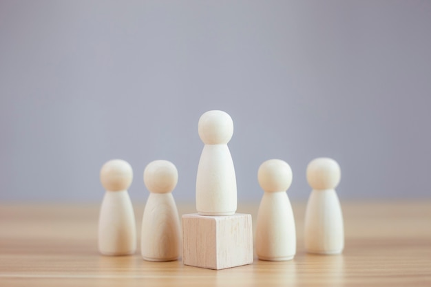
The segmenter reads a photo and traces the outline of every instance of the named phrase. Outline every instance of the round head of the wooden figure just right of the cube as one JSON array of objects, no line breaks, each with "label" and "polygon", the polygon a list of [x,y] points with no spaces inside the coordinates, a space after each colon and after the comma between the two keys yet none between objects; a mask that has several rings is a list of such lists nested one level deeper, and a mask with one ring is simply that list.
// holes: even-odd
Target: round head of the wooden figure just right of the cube
[{"label": "round head of the wooden figure just right of the cube", "polygon": [[266,160],[260,164],[257,180],[265,192],[286,191],[292,184],[292,169],[284,160]]}]

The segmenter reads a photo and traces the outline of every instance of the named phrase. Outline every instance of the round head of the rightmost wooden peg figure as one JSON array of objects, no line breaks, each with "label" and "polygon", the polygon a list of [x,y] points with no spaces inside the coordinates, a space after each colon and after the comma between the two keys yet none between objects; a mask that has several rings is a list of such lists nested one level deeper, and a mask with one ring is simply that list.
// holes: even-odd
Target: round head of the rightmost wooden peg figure
[{"label": "round head of the rightmost wooden peg figure", "polygon": [[332,158],[316,158],[307,167],[307,181],[312,189],[335,189],[341,180],[339,164]]}]

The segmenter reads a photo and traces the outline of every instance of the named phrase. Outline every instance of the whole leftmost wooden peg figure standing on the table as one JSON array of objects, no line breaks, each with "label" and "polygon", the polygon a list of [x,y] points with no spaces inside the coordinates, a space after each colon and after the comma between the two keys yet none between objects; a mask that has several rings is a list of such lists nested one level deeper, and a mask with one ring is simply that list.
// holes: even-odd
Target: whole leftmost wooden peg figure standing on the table
[{"label": "whole leftmost wooden peg figure standing on the table", "polygon": [[98,222],[98,250],[103,255],[128,255],[136,251],[136,223],[127,189],[133,171],[124,160],[109,160],[101,169],[106,190]]}]

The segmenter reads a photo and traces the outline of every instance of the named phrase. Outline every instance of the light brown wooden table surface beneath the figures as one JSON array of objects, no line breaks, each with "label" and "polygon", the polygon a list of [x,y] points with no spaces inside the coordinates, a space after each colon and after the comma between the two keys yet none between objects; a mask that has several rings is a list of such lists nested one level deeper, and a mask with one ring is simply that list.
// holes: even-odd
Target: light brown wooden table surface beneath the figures
[{"label": "light brown wooden table surface beneath the figures", "polygon": [[[304,204],[293,202],[297,255],[207,270],[97,251],[96,204],[0,204],[0,286],[431,286],[431,202],[341,202],[342,255],[304,251]],[[178,204],[180,214],[194,206]],[[251,213],[257,203],[238,206]],[[135,205],[138,234],[143,204]],[[139,246],[139,244],[138,244]]]}]

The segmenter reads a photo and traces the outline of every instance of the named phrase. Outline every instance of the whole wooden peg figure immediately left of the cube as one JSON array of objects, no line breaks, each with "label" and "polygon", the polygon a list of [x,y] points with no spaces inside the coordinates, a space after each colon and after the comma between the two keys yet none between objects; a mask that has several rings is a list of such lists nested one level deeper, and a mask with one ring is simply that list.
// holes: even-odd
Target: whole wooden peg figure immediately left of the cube
[{"label": "whole wooden peg figure immediately left of the cube", "polygon": [[148,261],[171,261],[180,255],[180,217],[172,191],[178,171],[172,162],[155,160],[144,171],[149,197],[143,215],[140,250]]}]

